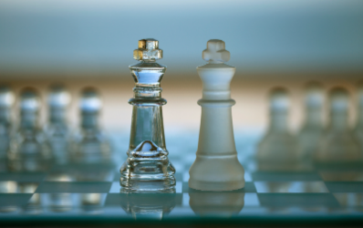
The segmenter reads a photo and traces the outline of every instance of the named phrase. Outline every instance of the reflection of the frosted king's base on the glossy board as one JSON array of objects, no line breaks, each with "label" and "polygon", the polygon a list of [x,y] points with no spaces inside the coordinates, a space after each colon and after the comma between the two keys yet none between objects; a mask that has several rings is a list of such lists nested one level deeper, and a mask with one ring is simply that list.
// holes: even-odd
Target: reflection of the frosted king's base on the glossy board
[{"label": "reflection of the frosted king's base on the glossy board", "polygon": [[189,204],[198,215],[230,217],[244,208],[244,192],[189,192]]}]

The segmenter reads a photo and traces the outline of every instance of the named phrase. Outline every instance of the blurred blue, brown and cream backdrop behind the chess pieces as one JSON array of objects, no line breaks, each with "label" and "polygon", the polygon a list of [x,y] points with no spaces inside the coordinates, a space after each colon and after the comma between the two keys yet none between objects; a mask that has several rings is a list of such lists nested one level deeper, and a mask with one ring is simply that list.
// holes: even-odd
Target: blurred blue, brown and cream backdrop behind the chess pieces
[{"label": "blurred blue, brown and cream backdrop behind the chess pieces", "polygon": [[[133,79],[129,65],[138,40],[160,41],[168,67],[161,82],[166,134],[198,132],[202,82],[209,39],[222,39],[237,68],[232,82],[235,130],[264,130],[268,92],[288,89],[290,124],[304,118],[306,82],[347,88],[351,124],[356,119],[356,84],[363,72],[361,0],[2,0],[0,83],[16,90],[32,86],[46,101],[47,88],[63,83],[72,95],[69,119],[78,124],[81,88],[99,89],[102,124],[130,132]],[[46,111],[42,118],[46,120]],[[168,136],[166,137],[168,139]]]}]

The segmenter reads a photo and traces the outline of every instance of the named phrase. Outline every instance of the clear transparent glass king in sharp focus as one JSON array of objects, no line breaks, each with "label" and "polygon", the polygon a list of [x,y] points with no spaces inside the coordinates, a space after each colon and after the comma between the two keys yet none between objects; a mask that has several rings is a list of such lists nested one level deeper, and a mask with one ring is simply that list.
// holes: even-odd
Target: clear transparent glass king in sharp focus
[{"label": "clear transparent glass king in sharp focus", "polygon": [[131,65],[135,80],[128,159],[120,168],[122,192],[173,192],[175,168],[165,146],[161,106],[161,78],[166,67],[158,64],[162,50],[155,39],[139,40],[133,57],[140,63]]}]

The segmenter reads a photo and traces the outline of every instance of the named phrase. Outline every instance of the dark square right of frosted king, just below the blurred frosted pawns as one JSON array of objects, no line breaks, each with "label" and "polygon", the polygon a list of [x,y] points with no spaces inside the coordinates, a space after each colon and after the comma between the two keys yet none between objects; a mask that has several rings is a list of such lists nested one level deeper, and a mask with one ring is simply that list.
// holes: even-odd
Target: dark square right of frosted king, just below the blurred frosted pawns
[{"label": "dark square right of frosted king, just below the blurred frosted pawns", "polygon": [[318,173],[312,171],[256,171],[254,181],[322,181]]}]

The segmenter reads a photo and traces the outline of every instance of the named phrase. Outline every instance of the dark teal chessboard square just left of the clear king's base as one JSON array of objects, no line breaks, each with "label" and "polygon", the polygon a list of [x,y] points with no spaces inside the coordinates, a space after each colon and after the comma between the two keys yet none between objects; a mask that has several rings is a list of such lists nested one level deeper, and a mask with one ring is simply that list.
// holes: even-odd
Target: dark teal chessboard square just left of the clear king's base
[{"label": "dark teal chessboard square just left of the clear king's base", "polygon": [[43,182],[37,193],[103,193],[109,192],[111,182]]}]

